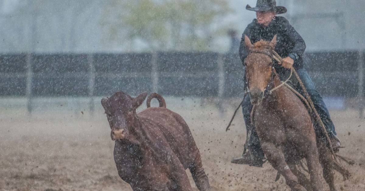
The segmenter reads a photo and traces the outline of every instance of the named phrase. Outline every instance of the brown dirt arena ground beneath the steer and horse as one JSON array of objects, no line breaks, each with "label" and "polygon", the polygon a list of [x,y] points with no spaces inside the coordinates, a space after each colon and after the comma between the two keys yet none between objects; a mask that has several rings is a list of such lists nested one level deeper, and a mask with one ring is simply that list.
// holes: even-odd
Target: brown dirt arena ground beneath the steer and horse
[{"label": "brown dirt arena ground beneath the steer and horse", "polygon": [[[199,100],[166,102],[191,128],[213,191],[289,190],[282,177],[274,182],[276,171],[268,163],[264,168],[230,163],[242,154],[246,138],[241,113],[231,130],[224,131],[233,106],[221,113]],[[131,190],[117,174],[114,142],[103,110],[97,105],[91,114],[82,107],[70,109],[59,104],[32,115],[24,108],[1,108],[0,190]],[[340,154],[356,162],[346,165],[353,174],[350,180],[343,181],[336,174],[336,186],[338,190],[364,191],[365,122],[353,110],[330,113],[346,146]],[[191,184],[195,187],[192,179]]]}]

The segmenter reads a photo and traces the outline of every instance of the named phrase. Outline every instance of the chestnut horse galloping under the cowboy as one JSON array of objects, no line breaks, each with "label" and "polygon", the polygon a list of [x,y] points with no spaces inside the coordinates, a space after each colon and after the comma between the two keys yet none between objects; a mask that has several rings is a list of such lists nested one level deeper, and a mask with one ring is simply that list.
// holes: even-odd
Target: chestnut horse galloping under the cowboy
[{"label": "chestnut horse galloping under the cowboy", "polygon": [[[292,191],[322,191],[322,170],[330,190],[335,191],[333,170],[339,171],[345,179],[350,173],[335,161],[323,142],[317,143],[311,117],[301,100],[284,85],[278,87],[282,82],[273,67],[272,56],[276,35],[270,42],[260,40],[255,44],[245,36],[245,45],[249,55],[244,65],[251,104],[254,105],[251,123],[256,128],[266,158],[284,176]],[[275,91],[270,91],[274,88]],[[307,162],[310,180],[295,165],[303,158]]]}]

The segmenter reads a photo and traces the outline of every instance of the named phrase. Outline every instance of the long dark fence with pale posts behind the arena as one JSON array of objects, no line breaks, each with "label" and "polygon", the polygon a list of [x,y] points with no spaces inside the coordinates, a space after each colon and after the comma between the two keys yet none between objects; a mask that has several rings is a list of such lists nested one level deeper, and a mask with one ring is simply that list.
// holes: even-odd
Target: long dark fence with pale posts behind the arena
[{"label": "long dark fence with pale posts behind the arena", "polygon": [[[364,92],[364,52],[305,55],[306,68],[323,96]],[[240,97],[243,66],[236,54],[214,52],[3,54],[0,96],[112,95],[142,91],[164,96]],[[91,106],[92,107],[92,106]]]}]

